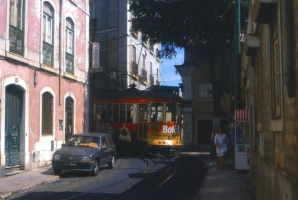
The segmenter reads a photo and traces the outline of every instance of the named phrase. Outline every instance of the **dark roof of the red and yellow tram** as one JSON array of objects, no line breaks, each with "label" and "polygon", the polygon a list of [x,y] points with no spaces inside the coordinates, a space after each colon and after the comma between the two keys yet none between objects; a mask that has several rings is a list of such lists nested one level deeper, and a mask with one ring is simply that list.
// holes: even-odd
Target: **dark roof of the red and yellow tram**
[{"label": "dark roof of the red and yellow tram", "polygon": [[[175,87],[173,90],[168,86],[164,91],[161,89],[156,89],[153,87],[150,87],[148,90],[138,90],[136,88],[130,88],[126,91],[121,91],[121,92],[102,92],[102,93],[97,93],[94,95],[93,99],[148,99],[148,100],[182,100],[182,98],[179,96],[179,87],[178,86],[171,86]],[[178,89],[178,92],[177,92]],[[114,103],[111,102],[111,103]],[[129,103],[129,102],[128,102]],[[144,102],[146,103],[146,102]]]}]

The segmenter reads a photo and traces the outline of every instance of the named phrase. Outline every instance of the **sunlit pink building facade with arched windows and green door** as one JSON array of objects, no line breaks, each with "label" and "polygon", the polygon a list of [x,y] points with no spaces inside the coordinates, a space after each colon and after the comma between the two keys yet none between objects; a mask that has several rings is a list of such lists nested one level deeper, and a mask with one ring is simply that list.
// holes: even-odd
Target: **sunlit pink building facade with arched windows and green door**
[{"label": "sunlit pink building facade with arched windows and green door", "polygon": [[4,177],[51,164],[69,136],[89,131],[89,3],[4,0],[0,19]]}]

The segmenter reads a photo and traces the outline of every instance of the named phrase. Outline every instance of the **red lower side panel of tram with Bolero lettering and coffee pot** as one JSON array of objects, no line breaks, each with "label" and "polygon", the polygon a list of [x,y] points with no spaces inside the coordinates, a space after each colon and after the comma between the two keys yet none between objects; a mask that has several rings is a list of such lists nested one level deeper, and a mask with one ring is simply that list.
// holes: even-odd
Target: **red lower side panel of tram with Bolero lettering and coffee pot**
[{"label": "red lower side panel of tram with Bolero lettering and coffee pot", "polygon": [[121,122],[95,122],[96,133],[109,134],[114,139],[124,141],[136,140],[136,124]]}]

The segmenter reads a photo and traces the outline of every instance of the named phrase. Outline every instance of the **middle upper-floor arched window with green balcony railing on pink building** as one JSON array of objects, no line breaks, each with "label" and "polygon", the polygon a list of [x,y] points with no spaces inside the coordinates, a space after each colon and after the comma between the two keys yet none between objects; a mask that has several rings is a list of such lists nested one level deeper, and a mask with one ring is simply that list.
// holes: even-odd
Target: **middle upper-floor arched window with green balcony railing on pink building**
[{"label": "middle upper-floor arched window with green balcony railing on pink building", "polygon": [[54,27],[54,9],[50,4],[44,2],[44,30],[42,53],[44,64],[54,67],[54,46],[53,46],[53,27]]}]

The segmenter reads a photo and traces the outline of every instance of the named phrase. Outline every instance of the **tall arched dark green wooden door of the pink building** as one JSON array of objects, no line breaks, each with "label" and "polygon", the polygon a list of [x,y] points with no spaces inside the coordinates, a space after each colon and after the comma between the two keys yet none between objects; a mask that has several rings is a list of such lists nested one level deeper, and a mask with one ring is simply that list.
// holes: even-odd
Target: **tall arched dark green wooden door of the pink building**
[{"label": "tall arched dark green wooden door of the pink building", "polygon": [[5,166],[19,164],[20,91],[6,87],[5,96]]}]

